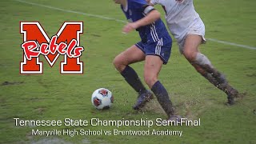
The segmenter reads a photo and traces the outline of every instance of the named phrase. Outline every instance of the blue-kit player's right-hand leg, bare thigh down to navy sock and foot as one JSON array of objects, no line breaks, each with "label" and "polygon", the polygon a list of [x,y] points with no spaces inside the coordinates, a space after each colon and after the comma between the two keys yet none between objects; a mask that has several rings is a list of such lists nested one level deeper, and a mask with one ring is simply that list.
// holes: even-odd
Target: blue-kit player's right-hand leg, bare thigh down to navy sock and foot
[{"label": "blue-kit player's right-hand leg, bare thigh down to navy sock and foot", "polygon": [[[158,81],[158,74],[162,68],[162,59],[156,55],[147,55],[144,66],[144,80],[150,89],[154,92],[158,102],[165,110],[166,114],[171,118],[181,118],[175,115],[174,106],[170,101],[169,94],[162,83]],[[176,119],[174,119],[176,120]]]}]

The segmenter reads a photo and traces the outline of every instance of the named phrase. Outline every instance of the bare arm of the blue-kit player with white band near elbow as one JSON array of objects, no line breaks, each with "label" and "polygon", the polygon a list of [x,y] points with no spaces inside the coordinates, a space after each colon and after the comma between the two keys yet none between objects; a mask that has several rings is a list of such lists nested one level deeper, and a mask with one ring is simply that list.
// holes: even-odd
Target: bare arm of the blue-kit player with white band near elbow
[{"label": "bare arm of the blue-kit player with white band near elbow", "polygon": [[141,26],[146,26],[150,23],[155,22],[161,16],[158,10],[154,10],[154,7],[149,5],[146,6],[143,13],[146,14],[146,17],[139,19],[136,22],[130,22],[126,24],[126,26],[123,27],[122,31],[124,33],[129,33],[130,31],[138,29]]}]

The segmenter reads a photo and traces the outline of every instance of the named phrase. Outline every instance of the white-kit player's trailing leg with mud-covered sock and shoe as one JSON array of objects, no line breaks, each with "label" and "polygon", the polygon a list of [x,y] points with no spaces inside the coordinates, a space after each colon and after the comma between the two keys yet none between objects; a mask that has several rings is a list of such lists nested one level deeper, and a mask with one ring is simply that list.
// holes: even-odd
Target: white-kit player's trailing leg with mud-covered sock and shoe
[{"label": "white-kit player's trailing leg with mud-covered sock and shoe", "polygon": [[223,74],[218,72],[210,63],[210,60],[198,50],[198,46],[202,42],[202,37],[199,35],[189,34],[186,37],[183,55],[191,63],[192,66],[202,74],[209,82],[218,89],[227,94],[228,104],[234,104],[234,98],[238,97],[238,90],[235,90],[226,81]]}]

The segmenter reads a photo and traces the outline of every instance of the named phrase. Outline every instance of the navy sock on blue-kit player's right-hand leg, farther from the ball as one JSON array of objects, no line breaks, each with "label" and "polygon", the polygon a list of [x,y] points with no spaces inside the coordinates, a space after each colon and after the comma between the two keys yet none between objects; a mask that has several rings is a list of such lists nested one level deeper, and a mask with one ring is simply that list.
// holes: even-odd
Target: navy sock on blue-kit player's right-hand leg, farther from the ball
[{"label": "navy sock on blue-kit player's right-hand leg, farther from the ball", "polygon": [[161,82],[155,82],[151,90],[154,92],[154,95],[158,98],[158,102],[162,106],[162,109],[165,110],[168,116],[174,114],[174,107],[170,102],[169,95],[166,91],[166,88],[162,86]]}]

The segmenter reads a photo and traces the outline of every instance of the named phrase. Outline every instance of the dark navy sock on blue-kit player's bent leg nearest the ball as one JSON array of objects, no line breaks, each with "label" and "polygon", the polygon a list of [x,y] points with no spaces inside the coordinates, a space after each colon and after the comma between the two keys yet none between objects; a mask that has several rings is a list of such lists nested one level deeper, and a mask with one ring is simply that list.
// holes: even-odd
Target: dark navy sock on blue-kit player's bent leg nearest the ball
[{"label": "dark navy sock on blue-kit player's bent leg nearest the ball", "polygon": [[133,68],[126,66],[126,68],[122,70],[121,75],[126,79],[126,82],[138,92],[138,94],[146,92],[145,86],[143,86],[141,80],[138,78],[138,74]]}]

